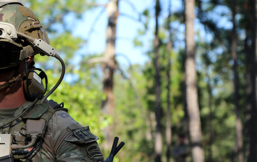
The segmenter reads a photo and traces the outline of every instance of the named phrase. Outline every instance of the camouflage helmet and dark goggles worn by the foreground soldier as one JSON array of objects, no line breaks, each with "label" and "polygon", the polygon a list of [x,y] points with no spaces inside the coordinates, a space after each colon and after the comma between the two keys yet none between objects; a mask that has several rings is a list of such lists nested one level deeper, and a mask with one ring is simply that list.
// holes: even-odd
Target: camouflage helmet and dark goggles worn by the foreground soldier
[{"label": "camouflage helmet and dark goggles worn by the foreground soldier", "polygon": [[[0,2],[0,22],[10,23],[17,32],[50,43],[46,32],[41,31],[42,26],[33,11],[19,2]],[[31,42],[21,36],[13,41],[0,38],[0,73],[1,71],[14,70],[21,60],[37,54],[30,45]],[[20,55],[23,55],[21,51],[27,46],[30,47],[30,54],[21,57]]]}]

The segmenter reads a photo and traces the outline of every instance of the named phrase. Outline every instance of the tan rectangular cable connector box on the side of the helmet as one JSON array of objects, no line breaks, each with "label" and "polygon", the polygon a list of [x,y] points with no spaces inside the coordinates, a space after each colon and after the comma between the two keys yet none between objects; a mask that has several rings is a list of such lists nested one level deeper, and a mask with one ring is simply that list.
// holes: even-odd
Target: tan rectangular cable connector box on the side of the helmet
[{"label": "tan rectangular cable connector box on the side of the helmet", "polygon": [[54,57],[54,55],[55,55],[54,48],[52,46],[50,46],[49,44],[47,44],[42,39],[35,39],[33,41],[33,44],[34,44],[34,47],[39,49],[44,55]]}]

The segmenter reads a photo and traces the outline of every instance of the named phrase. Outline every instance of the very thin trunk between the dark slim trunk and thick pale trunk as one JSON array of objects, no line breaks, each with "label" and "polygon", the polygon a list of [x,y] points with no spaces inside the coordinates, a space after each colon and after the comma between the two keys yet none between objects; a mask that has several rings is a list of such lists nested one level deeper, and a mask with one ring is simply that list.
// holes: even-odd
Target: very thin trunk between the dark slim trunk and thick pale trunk
[{"label": "very thin trunk between the dark slim trunk and thick pale trunk", "polygon": [[168,31],[169,31],[169,42],[167,44],[167,57],[168,57],[168,67],[167,67],[167,116],[166,116],[166,146],[167,146],[167,162],[170,161],[170,152],[171,152],[171,102],[170,102],[170,84],[171,84],[171,77],[170,77],[170,70],[171,70],[171,48],[172,48],[172,41],[171,41],[171,1],[169,1],[169,16],[168,16]]}]

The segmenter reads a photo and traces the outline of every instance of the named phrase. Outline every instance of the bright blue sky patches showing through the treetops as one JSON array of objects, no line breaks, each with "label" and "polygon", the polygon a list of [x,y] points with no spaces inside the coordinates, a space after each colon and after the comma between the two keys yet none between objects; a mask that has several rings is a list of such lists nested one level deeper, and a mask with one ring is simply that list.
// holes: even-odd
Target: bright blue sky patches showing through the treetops
[{"label": "bright blue sky patches showing through the treetops", "polygon": [[[142,12],[146,8],[150,9],[151,15],[154,15],[154,0],[129,0],[137,11]],[[107,4],[108,0],[97,0],[99,4]],[[168,1],[161,0],[162,4],[162,15],[160,16],[160,24],[163,22],[163,18],[168,15]],[[180,0],[172,1],[172,10],[175,11],[177,8],[181,7],[182,4]],[[88,10],[82,15],[82,19],[75,20],[74,15],[70,14],[66,16],[65,20],[69,23],[71,28],[73,28],[73,35],[79,36],[83,39],[88,38],[88,33],[92,23],[94,22],[97,15],[101,12],[103,7],[96,7],[94,9]],[[126,0],[120,0],[119,2],[119,12],[125,13],[127,15],[133,16],[134,18],[138,18],[137,11],[133,10]],[[76,24],[76,26],[74,26]],[[78,51],[78,55],[75,58],[76,60],[80,59],[80,55],[84,54],[94,54],[94,53],[102,53],[105,50],[105,35],[106,35],[106,27],[107,27],[107,13],[106,10],[101,14],[97,23],[95,24],[94,31],[91,33],[91,37],[88,43],[83,46]],[[151,41],[153,39],[153,31],[155,27],[154,19],[150,21],[150,28],[147,32],[147,35],[142,38],[143,47],[135,47],[133,45],[133,39],[138,35],[138,29],[144,29],[144,26],[141,22],[130,19],[127,16],[119,16],[117,22],[117,40],[115,50],[118,54],[126,55],[132,64],[144,64],[145,61],[148,60],[148,57],[145,55],[145,52],[149,50],[151,47]],[[127,60],[123,57],[117,57],[120,64],[124,64],[124,66],[128,65]]]}]

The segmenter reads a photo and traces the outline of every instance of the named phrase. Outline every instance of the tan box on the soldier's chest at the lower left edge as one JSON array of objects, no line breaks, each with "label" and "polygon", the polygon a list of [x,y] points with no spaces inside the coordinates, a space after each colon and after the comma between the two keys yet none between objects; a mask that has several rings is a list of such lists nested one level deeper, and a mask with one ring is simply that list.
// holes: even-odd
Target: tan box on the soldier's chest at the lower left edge
[{"label": "tan box on the soldier's chest at the lower left edge", "polygon": [[11,151],[12,151],[11,143],[12,143],[11,134],[0,134],[0,157],[11,154]]}]

